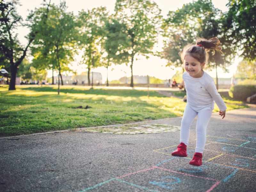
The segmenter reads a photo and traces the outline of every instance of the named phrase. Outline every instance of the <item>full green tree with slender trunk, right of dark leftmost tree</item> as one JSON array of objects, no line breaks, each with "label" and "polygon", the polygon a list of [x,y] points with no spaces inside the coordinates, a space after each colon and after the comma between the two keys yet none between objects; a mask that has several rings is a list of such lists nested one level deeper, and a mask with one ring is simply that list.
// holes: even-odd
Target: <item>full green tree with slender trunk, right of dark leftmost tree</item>
[{"label": "full green tree with slender trunk, right of dark leftmost tree", "polygon": [[[33,21],[32,30],[39,31],[33,43],[33,63],[38,69],[57,69],[61,84],[62,71],[70,70],[68,64],[74,61],[77,53],[78,29],[72,12],[66,12],[65,2],[59,6],[44,4],[46,8],[36,9],[29,15]],[[58,81],[58,94],[60,81]]]}]

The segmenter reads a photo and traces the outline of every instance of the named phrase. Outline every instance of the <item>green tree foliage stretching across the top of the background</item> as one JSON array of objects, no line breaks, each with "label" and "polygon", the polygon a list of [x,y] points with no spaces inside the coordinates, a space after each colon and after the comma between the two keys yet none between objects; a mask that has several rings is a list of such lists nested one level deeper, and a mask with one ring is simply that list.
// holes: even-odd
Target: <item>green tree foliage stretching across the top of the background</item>
[{"label": "green tree foliage stretching across the top of the background", "polygon": [[[252,62],[256,55],[255,0],[229,0],[229,11],[226,13],[215,8],[211,0],[197,0],[169,12],[165,20],[162,20],[161,10],[152,0],[117,0],[114,15],[109,15],[105,7],[98,7],[82,10],[78,17],[67,12],[65,1],[59,5],[43,1],[42,7],[30,12],[27,18],[26,26],[30,32],[26,36],[28,45],[25,47],[20,44],[18,34],[13,30],[17,26],[25,26],[16,12],[19,3],[16,0],[3,2],[0,4],[0,67],[12,71],[10,90],[15,89],[16,71],[18,67],[18,73],[23,70],[21,62],[32,41],[33,75],[41,78],[45,69],[70,71],[68,64],[74,60],[80,48],[83,52],[82,63],[88,68],[90,84],[90,70],[93,67],[104,66],[108,69],[112,64],[126,63],[131,65],[132,71],[134,57],[149,57],[159,34],[165,37],[161,57],[167,59],[167,65],[173,68],[182,65],[179,52],[185,45],[193,43],[198,36],[217,36],[223,44],[224,55],[210,54],[207,66],[216,70],[221,67],[226,71],[235,51],[240,49],[243,51],[242,56],[251,61],[247,66],[246,63],[241,64],[237,75],[255,79],[256,67],[255,62]],[[29,73],[27,71],[19,75],[28,78]],[[175,78],[177,80],[178,76]]]}]

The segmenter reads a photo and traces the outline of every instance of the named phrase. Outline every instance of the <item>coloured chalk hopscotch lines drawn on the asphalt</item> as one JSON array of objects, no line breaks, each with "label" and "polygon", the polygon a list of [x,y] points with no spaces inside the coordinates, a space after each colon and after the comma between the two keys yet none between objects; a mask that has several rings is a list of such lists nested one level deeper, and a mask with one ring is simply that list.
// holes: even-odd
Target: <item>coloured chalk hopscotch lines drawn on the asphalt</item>
[{"label": "coloured chalk hopscotch lines drawn on the asphalt", "polygon": [[[208,141],[209,143],[219,143],[219,144],[224,144],[224,145],[233,145],[233,146],[237,146],[237,147],[242,147],[242,148],[247,148],[247,147],[244,147],[246,144],[250,143],[250,142],[254,142],[254,141],[248,141],[248,140],[241,140],[241,139],[230,139],[230,138],[223,138],[223,137],[216,137],[216,136],[207,136],[207,138],[209,137],[215,137],[215,138],[221,138],[221,139],[228,139],[228,140],[239,140],[239,141],[245,141],[244,143],[242,143],[241,145],[233,145],[233,144],[227,144],[227,143],[221,143],[221,142],[215,142],[215,141]],[[208,144],[209,144],[208,143]],[[154,152],[158,152],[158,153],[162,153],[162,154],[165,154],[165,155],[169,155],[171,156],[171,154],[169,153],[164,153],[164,152],[161,152],[161,150],[164,150],[164,149],[167,149],[167,148],[172,148],[172,147],[175,147],[177,145],[173,145],[173,146],[169,146],[169,147],[166,147],[166,148],[161,148],[161,149],[156,149],[156,150],[153,150]],[[249,149],[253,149],[255,150],[255,148],[249,148]],[[152,192],[156,192],[156,190],[153,190],[153,189],[150,189],[150,188],[147,188],[147,187],[144,187],[144,186],[140,186],[140,185],[136,185],[134,183],[131,183],[131,182],[127,182],[125,180],[122,180],[122,178],[126,177],[126,176],[130,176],[130,175],[133,175],[133,174],[136,174],[136,173],[140,173],[140,172],[146,172],[146,171],[150,171],[150,170],[153,170],[153,169],[161,169],[161,170],[164,170],[164,171],[168,171],[168,172],[173,172],[173,173],[178,173],[178,174],[182,174],[182,175],[185,175],[185,176],[191,176],[191,177],[195,177],[195,178],[200,178],[200,179],[206,179],[206,180],[213,180],[215,181],[215,183],[206,191],[206,192],[210,192],[212,191],[213,188],[215,188],[217,185],[219,185],[221,182],[226,182],[228,181],[231,177],[233,177],[236,172],[238,170],[244,170],[244,171],[250,171],[250,172],[256,172],[254,170],[247,170],[247,169],[243,169],[243,168],[237,168],[237,167],[233,167],[233,166],[229,166],[229,165],[224,165],[224,164],[218,164],[218,163],[211,163],[209,161],[212,161],[214,159],[217,159],[218,157],[220,156],[237,156],[237,155],[233,155],[233,154],[229,154],[229,153],[225,153],[225,152],[219,152],[219,151],[214,151],[214,150],[208,150],[208,149],[205,149],[207,151],[211,151],[211,152],[217,152],[217,153],[220,153],[219,155],[217,156],[214,156],[206,161],[204,161],[205,163],[207,164],[212,164],[212,165],[216,165],[216,166],[221,166],[221,167],[225,167],[225,168],[230,168],[230,169],[233,169],[234,171],[228,175],[226,178],[224,178],[223,180],[215,180],[215,179],[212,179],[212,178],[204,178],[204,177],[200,177],[200,176],[196,176],[196,175],[191,175],[191,174],[187,174],[187,173],[183,173],[183,172],[177,172],[177,171],[173,171],[173,170],[169,170],[169,169],[165,169],[165,168],[162,168],[162,167],[159,167],[160,164],[163,164],[167,161],[171,161],[177,157],[172,157],[170,159],[167,159],[167,160],[164,160],[158,164],[156,164],[155,166],[152,166],[151,168],[148,168],[148,169],[144,169],[144,170],[140,170],[140,171],[137,171],[137,172],[132,172],[132,173],[128,173],[128,174],[125,174],[123,176],[120,176],[120,177],[117,177],[117,178],[112,178],[112,179],[109,179],[107,181],[104,181],[104,182],[101,182],[97,185],[94,185],[92,187],[89,187],[89,188],[86,188],[82,191],[79,191],[79,192],[85,192],[85,191],[88,191],[88,190],[91,190],[93,188],[97,188],[97,187],[100,187],[108,182],[111,182],[111,181],[119,181],[119,182],[122,182],[122,183],[125,183],[125,184],[128,184],[130,186],[134,186],[136,188],[140,188],[140,189],[144,189],[146,191],[152,191]],[[244,157],[244,156],[237,156],[237,157],[241,157],[241,158],[248,158],[248,159],[252,159],[252,160],[256,160],[254,158],[250,158],[250,157]],[[187,159],[191,159],[191,158],[188,158],[188,157],[185,157]]]}]

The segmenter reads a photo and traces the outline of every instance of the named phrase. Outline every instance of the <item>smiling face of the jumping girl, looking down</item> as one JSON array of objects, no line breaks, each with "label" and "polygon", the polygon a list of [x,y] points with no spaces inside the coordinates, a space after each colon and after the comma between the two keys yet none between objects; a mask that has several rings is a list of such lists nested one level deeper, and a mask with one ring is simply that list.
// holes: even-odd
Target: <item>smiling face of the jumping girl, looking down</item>
[{"label": "smiling face of the jumping girl, looking down", "polygon": [[202,77],[204,74],[202,70],[204,65],[205,63],[200,63],[190,54],[185,55],[184,68],[191,77],[194,77],[194,78]]}]

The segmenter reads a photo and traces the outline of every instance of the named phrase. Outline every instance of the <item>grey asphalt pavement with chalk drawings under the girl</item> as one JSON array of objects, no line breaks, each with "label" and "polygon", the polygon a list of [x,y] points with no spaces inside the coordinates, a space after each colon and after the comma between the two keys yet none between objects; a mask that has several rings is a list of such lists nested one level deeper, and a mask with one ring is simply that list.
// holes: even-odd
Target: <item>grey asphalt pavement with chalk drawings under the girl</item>
[{"label": "grey asphalt pavement with chalk drawings under the girl", "polygon": [[200,167],[188,164],[196,145],[196,120],[188,157],[171,156],[179,144],[180,121],[133,125],[158,127],[140,134],[78,129],[0,138],[0,191],[255,190],[256,108],[227,111],[224,119],[212,114]]}]

